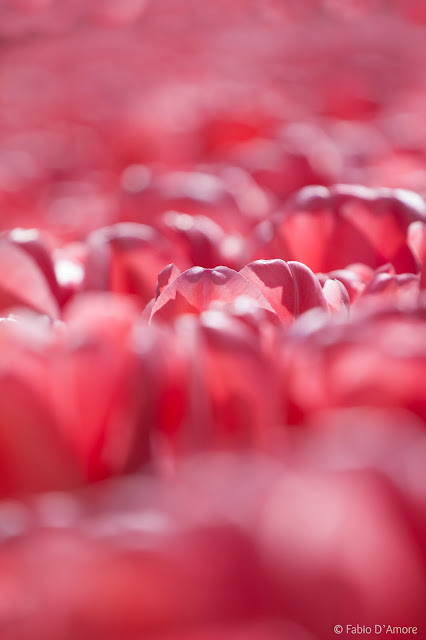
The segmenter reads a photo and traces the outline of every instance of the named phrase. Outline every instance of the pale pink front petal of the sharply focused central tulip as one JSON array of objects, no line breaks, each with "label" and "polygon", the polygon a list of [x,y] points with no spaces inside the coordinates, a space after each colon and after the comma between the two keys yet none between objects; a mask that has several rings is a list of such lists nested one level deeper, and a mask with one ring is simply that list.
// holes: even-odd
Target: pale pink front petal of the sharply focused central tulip
[{"label": "pale pink front petal of the sharply focused central tulip", "polygon": [[151,311],[151,320],[171,319],[182,313],[200,313],[212,302],[233,302],[248,297],[259,307],[273,311],[260,290],[240,273],[228,267],[193,267],[178,276],[159,295]]}]

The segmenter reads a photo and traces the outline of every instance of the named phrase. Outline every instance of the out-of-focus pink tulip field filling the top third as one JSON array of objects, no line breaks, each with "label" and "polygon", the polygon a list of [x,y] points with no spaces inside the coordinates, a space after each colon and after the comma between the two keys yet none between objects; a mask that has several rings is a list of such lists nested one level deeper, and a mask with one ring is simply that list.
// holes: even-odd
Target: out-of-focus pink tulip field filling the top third
[{"label": "out-of-focus pink tulip field filling the top third", "polygon": [[152,222],[224,175],[268,210],[307,184],[424,194],[425,25],[422,0],[1,0],[0,228]]}]

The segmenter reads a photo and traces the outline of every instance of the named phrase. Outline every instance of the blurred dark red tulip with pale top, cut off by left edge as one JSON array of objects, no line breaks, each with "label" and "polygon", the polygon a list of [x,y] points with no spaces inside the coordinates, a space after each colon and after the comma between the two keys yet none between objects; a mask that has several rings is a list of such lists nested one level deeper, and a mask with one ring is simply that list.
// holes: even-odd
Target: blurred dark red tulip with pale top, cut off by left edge
[{"label": "blurred dark red tulip with pale top, cut off by left edge", "polygon": [[83,474],[50,403],[51,329],[34,314],[0,323],[0,497],[70,489]]}]

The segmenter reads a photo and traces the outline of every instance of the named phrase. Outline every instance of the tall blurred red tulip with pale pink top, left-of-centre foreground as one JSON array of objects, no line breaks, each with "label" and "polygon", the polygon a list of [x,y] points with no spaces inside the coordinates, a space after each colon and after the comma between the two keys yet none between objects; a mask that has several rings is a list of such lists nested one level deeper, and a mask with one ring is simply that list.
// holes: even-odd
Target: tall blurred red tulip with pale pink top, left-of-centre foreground
[{"label": "tall blurred red tulip with pale pink top, left-of-centre foreground", "polygon": [[50,358],[57,428],[88,480],[140,467],[150,457],[144,375],[132,349],[135,320],[136,308],[125,298],[80,296],[67,308]]}]

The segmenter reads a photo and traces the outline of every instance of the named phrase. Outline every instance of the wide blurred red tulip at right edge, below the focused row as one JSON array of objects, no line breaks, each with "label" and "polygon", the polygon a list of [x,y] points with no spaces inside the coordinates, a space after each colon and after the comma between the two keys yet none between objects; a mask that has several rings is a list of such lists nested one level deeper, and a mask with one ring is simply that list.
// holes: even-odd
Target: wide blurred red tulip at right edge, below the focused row
[{"label": "wide blurred red tulip at right edge, below the focused row", "polygon": [[401,407],[425,419],[423,306],[369,307],[353,318],[313,323],[303,339],[296,326],[283,342],[279,363],[287,419],[303,422],[319,409],[350,406]]}]

